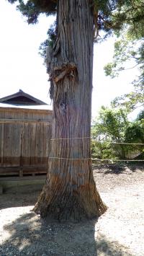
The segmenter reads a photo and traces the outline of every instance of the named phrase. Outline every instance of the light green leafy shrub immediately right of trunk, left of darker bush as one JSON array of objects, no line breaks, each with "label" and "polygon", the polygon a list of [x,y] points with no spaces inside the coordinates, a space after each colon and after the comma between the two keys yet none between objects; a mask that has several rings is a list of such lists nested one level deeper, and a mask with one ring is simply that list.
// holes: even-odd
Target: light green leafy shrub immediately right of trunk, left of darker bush
[{"label": "light green leafy shrub immediately right of trunk, left of darker bush", "polygon": [[[113,110],[104,106],[101,108],[92,127],[92,136],[101,144],[100,146],[96,143],[95,147],[99,149],[100,146],[102,159],[117,159],[117,157],[127,159],[127,147],[121,143],[125,142],[125,131],[128,125],[127,112],[124,110]],[[111,144],[112,142],[116,144]],[[92,152],[94,155],[94,149]]]}]

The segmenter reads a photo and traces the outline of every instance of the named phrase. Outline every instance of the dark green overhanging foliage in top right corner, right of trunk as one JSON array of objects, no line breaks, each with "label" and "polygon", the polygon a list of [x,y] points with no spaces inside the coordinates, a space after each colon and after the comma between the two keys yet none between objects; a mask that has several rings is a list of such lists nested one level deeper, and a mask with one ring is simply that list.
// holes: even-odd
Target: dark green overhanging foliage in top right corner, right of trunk
[{"label": "dark green overhanging foliage in top right corner, right of trunk", "polygon": [[114,31],[120,35],[125,25],[128,26],[128,35],[136,38],[143,37],[143,0],[94,0],[94,9],[97,17],[97,29],[104,31],[104,37]]}]

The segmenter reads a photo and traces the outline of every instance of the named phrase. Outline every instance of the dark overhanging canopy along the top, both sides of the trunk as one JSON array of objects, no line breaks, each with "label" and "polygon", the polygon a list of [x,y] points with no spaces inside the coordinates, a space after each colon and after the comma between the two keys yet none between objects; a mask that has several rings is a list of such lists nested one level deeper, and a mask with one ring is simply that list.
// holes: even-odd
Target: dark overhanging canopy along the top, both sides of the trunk
[{"label": "dark overhanging canopy along the top, both sides of the trunk", "polygon": [[[57,0],[8,0],[9,3],[17,3],[17,9],[27,17],[30,24],[37,23],[41,13],[47,16],[56,13]],[[119,31],[125,24],[129,25],[129,31],[139,30],[143,33],[143,0],[89,0],[91,8],[94,8],[94,25],[96,35],[104,30],[106,33],[112,33],[112,30]]]}]

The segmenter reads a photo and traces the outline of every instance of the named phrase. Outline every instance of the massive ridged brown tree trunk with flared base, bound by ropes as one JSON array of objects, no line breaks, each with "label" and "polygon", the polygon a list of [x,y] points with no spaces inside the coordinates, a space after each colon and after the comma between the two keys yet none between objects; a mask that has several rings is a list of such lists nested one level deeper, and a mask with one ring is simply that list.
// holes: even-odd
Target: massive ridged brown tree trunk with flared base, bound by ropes
[{"label": "massive ridged brown tree trunk with flared base, bound by ropes", "polygon": [[58,37],[48,67],[53,87],[53,131],[48,175],[34,208],[41,216],[100,216],[102,202],[91,169],[91,89],[94,18],[90,0],[58,1]]}]

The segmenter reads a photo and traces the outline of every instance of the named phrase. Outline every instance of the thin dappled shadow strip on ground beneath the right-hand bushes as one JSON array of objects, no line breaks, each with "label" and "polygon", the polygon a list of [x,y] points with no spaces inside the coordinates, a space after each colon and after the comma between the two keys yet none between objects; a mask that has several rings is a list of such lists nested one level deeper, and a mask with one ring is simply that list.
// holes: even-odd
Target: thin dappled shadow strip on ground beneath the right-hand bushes
[{"label": "thin dappled shadow strip on ground beneath the right-hand bushes", "polygon": [[144,164],[94,164],[93,169],[96,170],[96,172],[102,172],[105,175],[120,175],[122,173],[125,173],[125,175],[131,175],[132,172],[136,172],[138,170],[143,172]]}]

